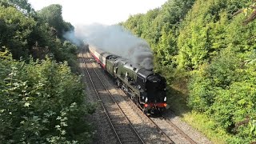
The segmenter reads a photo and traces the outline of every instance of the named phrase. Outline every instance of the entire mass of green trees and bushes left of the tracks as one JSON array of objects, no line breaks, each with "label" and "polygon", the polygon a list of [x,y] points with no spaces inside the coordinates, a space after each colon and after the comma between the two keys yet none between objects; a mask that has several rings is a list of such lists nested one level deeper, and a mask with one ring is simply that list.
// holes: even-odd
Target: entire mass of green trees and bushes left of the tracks
[{"label": "entire mass of green trees and bushes left of the tracks", "polygon": [[62,37],[73,29],[62,6],[0,1],[0,143],[91,142],[78,46]]}]

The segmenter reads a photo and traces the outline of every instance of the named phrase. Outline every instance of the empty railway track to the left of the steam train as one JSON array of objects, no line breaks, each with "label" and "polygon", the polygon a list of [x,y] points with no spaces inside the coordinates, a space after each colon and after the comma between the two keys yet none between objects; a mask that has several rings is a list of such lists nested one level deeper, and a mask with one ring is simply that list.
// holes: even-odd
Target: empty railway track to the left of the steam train
[{"label": "empty railway track to the left of the steam train", "polygon": [[[82,55],[83,54],[84,51],[82,51]],[[90,82],[101,102],[106,117],[110,122],[110,126],[118,139],[118,143],[144,143],[137,131],[134,130],[134,127],[130,124],[129,119],[126,118],[120,106],[118,106],[118,103],[115,102],[109,90],[106,89],[101,78],[94,70],[94,66],[91,65],[90,61],[86,61],[84,58],[82,59],[86,68],[86,74],[88,78],[90,78]]]}]

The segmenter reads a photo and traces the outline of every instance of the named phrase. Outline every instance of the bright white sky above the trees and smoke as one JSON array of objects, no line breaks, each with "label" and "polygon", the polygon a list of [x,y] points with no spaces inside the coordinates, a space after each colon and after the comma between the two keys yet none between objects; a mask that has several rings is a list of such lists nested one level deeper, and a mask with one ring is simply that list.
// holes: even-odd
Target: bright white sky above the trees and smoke
[{"label": "bright white sky above the trees and smoke", "polygon": [[131,14],[146,13],[167,0],[28,0],[35,10],[50,4],[62,5],[62,17],[75,25],[124,22]]}]

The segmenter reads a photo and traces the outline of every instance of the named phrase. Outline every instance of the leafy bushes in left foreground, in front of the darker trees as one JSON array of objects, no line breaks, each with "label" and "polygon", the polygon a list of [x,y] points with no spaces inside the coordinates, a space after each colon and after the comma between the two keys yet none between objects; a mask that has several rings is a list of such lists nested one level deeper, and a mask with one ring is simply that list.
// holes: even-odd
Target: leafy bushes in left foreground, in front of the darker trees
[{"label": "leafy bushes in left foreground, in front of the darker trees", "polygon": [[0,54],[0,143],[90,141],[84,86],[66,63]]}]

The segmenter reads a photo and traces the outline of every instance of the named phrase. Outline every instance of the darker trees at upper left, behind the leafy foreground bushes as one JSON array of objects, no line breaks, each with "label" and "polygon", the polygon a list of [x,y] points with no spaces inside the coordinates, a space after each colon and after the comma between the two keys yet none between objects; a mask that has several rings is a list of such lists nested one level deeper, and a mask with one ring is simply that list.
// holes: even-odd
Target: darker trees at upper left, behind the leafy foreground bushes
[{"label": "darker trees at upper left, behind the leafy foreground bushes", "polygon": [[74,26],[63,21],[60,5],[35,12],[26,0],[0,1],[0,48],[6,46],[15,59],[54,54],[58,62],[67,61],[75,69],[78,48],[62,36],[70,30]]}]

